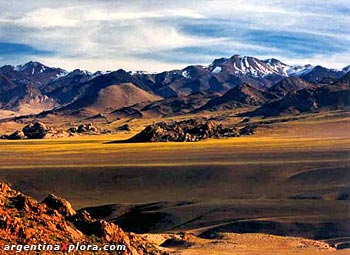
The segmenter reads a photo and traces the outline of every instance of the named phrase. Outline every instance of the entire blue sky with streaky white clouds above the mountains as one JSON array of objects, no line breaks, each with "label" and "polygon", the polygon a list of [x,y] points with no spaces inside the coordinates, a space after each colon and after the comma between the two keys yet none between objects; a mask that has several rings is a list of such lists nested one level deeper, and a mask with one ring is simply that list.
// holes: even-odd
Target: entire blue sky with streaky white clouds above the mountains
[{"label": "entire blue sky with streaky white clouds above the mountains", "polygon": [[341,69],[349,0],[0,0],[0,65],[158,72],[238,54]]}]

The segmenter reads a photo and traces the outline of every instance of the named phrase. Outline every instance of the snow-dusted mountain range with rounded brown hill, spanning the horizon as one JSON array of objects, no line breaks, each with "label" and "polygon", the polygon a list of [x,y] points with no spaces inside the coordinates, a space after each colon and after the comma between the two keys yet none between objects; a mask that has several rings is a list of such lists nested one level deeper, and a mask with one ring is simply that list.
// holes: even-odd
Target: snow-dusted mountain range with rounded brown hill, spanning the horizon
[{"label": "snow-dusted mountain range with rounded brown hill, spanning the horizon", "polygon": [[0,117],[50,112],[171,116],[253,107],[250,115],[349,106],[350,66],[292,66],[234,55],[161,73],[68,72],[39,62],[0,67]]}]

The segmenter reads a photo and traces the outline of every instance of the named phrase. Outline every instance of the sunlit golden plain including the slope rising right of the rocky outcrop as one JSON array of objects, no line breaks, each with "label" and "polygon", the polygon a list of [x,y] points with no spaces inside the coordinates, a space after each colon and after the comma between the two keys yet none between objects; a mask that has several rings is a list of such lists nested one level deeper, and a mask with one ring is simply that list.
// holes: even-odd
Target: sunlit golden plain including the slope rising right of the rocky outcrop
[{"label": "sunlit golden plain including the slope rising right of the rocky outcrop", "polygon": [[[167,118],[165,120],[178,120]],[[283,120],[253,119],[261,121]],[[16,168],[30,166],[113,166],[142,164],[213,164],[219,163],[223,156],[225,162],[237,162],[237,155],[279,151],[291,153],[299,150],[341,151],[350,147],[350,114],[331,112],[309,114],[299,120],[275,123],[261,128],[257,135],[230,139],[212,139],[194,143],[109,143],[124,140],[139,132],[145,125],[155,120],[135,119],[132,132],[112,135],[77,136],[73,138],[0,141],[0,167]],[[126,123],[121,121],[115,126]],[[237,123],[237,118],[228,118],[225,124]],[[273,127],[273,128],[271,128]],[[234,161],[230,160],[234,157]],[[218,159],[217,161],[213,160]],[[99,159],[100,161],[96,161]],[[101,161],[102,160],[102,161]],[[243,158],[246,160],[246,158]],[[251,158],[256,161],[256,159]],[[242,161],[242,160],[239,160]],[[57,164],[55,164],[55,162]],[[249,163],[249,161],[246,161]],[[102,164],[102,165],[101,165]]]}]

